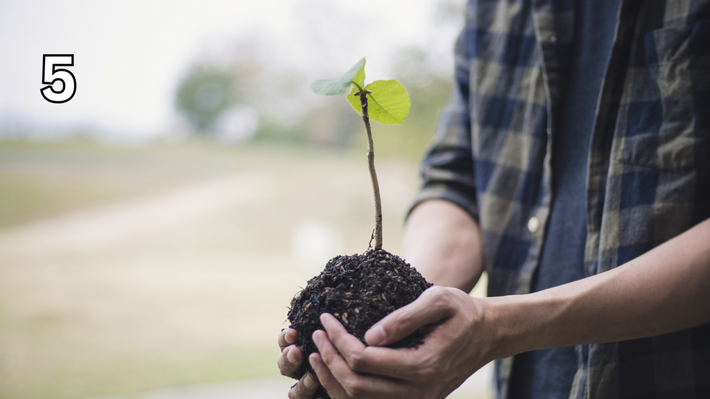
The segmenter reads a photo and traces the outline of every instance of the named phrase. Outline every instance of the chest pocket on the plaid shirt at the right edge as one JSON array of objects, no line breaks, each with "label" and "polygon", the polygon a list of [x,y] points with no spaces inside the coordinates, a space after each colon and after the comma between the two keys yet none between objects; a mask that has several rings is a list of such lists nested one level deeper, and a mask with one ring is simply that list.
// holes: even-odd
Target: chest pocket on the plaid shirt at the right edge
[{"label": "chest pocket on the plaid shirt at the right edge", "polygon": [[619,160],[694,168],[699,148],[710,141],[710,22],[651,31],[635,51],[643,52],[636,57],[643,61],[628,76]]}]

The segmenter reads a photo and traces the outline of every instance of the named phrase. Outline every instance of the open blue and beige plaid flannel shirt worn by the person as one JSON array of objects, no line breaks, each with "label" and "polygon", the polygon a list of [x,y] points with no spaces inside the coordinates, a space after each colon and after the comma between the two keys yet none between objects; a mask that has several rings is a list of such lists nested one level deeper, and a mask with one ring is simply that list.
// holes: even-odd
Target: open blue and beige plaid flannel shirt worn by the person
[{"label": "open blue and beige plaid flannel shirt worn by the person", "polygon": [[[491,296],[529,293],[540,261],[573,7],[469,1],[452,100],[422,163],[415,205],[449,200],[479,222]],[[589,149],[586,275],[710,217],[709,155],[710,1],[624,0]],[[710,324],[577,354],[570,398],[710,398]],[[496,361],[498,398],[512,361]]]}]

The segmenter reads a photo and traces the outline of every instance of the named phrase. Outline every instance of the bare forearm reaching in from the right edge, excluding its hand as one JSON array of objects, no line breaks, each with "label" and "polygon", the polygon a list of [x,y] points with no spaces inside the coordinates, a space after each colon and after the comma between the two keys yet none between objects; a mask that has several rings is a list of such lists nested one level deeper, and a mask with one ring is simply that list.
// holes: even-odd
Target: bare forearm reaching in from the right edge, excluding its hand
[{"label": "bare forearm reaching in from the right edge, excluding its hand", "polygon": [[710,219],[618,268],[528,295],[491,297],[496,357],[651,337],[710,322]]}]

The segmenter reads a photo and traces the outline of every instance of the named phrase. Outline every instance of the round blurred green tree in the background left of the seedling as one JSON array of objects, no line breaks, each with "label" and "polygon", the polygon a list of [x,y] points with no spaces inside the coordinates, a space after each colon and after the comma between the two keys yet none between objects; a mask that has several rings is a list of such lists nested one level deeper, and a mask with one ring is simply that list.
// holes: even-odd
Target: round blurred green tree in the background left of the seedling
[{"label": "round blurred green tree in the background left of the seedling", "polygon": [[178,86],[175,108],[196,133],[214,136],[220,116],[236,104],[236,80],[218,67],[193,67]]}]

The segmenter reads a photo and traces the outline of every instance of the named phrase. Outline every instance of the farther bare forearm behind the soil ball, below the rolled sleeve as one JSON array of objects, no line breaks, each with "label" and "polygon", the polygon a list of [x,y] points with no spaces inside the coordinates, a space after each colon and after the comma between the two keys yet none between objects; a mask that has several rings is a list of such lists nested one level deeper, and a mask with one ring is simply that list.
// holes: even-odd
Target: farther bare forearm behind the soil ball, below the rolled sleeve
[{"label": "farther bare forearm behind the soil ball, below the rolled sleeve", "polygon": [[435,285],[468,293],[481,277],[481,233],[463,209],[444,200],[417,205],[405,224],[404,258]]}]

